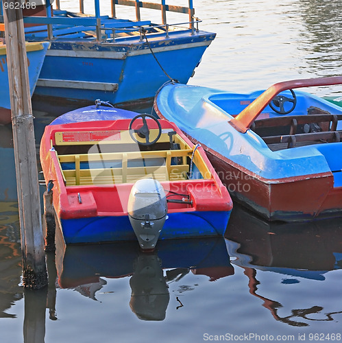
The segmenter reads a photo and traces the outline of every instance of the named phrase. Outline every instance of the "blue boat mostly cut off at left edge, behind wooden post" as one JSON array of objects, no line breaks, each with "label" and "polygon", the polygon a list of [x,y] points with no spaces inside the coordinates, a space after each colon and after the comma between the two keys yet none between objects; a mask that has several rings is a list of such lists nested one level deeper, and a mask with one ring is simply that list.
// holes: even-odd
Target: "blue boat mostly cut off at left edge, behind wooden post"
[{"label": "blue boat mostly cut off at left edge, behind wooden post", "polygon": [[[49,48],[48,42],[27,43],[27,64],[29,71],[29,91],[34,92],[36,82],[44,62],[45,54]],[[0,125],[11,122],[11,105],[10,105],[10,86],[8,84],[8,69],[6,45],[0,43]]]}]

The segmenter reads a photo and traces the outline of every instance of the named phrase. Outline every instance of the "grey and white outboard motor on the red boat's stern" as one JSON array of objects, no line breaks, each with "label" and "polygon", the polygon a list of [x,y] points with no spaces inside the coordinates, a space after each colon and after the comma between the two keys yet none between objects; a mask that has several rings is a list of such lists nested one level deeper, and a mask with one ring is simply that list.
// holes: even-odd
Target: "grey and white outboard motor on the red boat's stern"
[{"label": "grey and white outboard motor on the red boat's stern", "polygon": [[132,187],[128,217],[143,250],[153,250],[167,219],[167,198],[158,180],[144,178]]}]

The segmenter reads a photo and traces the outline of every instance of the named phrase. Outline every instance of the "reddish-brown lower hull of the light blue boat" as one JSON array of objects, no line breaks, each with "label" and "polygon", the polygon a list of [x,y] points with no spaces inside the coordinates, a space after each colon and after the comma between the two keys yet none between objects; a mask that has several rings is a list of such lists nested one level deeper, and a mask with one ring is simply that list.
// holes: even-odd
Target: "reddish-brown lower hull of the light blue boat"
[{"label": "reddish-brown lower hull of the light blue boat", "polygon": [[267,220],[289,222],[342,215],[342,187],[334,188],[332,173],[266,180],[208,148],[206,152],[232,198]]}]

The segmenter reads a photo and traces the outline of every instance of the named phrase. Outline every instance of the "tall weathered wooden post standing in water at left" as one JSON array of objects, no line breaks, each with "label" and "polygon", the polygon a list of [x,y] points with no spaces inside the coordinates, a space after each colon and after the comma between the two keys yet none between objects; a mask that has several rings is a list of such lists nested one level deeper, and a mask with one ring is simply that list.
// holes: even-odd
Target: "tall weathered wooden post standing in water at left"
[{"label": "tall weathered wooden post standing in water at left", "polygon": [[15,1],[8,0],[7,9],[3,8],[3,19],[21,227],[23,285],[30,289],[39,289],[47,285],[47,268],[42,237],[36,144],[29,93],[23,13],[20,6],[19,9],[15,9]]}]

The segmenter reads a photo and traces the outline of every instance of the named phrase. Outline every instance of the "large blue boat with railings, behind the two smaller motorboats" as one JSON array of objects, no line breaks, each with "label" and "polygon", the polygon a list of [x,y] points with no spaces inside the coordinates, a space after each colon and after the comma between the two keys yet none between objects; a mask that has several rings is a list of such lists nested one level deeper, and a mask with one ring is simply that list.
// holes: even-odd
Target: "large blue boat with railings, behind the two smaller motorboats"
[{"label": "large blue boat with railings, behind the two smaller motorboats", "polygon": [[[51,49],[34,92],[35,101],[73,104],[73,108],[103,99],[116,107],[151,106],[156,91],[170,79],[186,83],[215,34],[198,29],[193,1],[188,7],[143,1],[112,1],[111,16],[95,16],[57,8],[50,1],[24,9],[25,37],[49,40]],[[136,21],[118,19],[115,5],[134,6]],[[160,10],[162,23],[143,20],[141,8]],[[178,23],[167,13],[178,12]],[[183,14],[183,16],[182,16]]]}]

